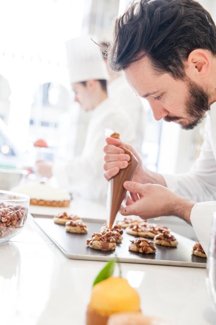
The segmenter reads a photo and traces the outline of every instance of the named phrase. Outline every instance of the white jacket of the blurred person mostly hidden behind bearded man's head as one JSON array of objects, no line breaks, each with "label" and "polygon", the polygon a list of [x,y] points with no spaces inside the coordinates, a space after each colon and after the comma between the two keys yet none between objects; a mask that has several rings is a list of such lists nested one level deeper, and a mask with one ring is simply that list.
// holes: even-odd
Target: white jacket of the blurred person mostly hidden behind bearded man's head
[{"label": "white jacket of the blurred person mostly hidden behind bearded man's head", "polygon": [[118,77],[108,84],[109,97],[118,108],[123,109],[132,122],[133,132],[136,136],[134,148],[141,154],[145,128],[145,108],[141,99],[128,85],[124,76]]}]

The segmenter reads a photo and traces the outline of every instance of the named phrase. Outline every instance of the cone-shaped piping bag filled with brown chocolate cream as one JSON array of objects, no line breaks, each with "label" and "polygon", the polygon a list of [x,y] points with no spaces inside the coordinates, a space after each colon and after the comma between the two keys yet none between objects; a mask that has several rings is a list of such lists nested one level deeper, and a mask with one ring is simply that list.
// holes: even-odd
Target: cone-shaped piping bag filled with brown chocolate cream
[{"label": "cone-shaped piping bag filled with brown chocolate cream", "polygon": [[[113,133],[110,137],[120,139],[120,135],[118,133]],[[107,192],[107,206],[109,209],[109,217],[108,217],[109,220],[107,220],[107,225],[110,228],[114,226],[117,213],[119,212],[119,209],[126,196],[127,190],[125,189],[123,184],[126,180],[131,181],[133,179],[138,165],[138,160],[134,156],[134,154],[125,148],[122,149],[125,151],[126,154],[128,154],[131,157],[131,160],[128,163],[128,167],[124,169],[120,169],[119,173],[115,175],[113,178],[111,178],[109,181],[109,188]]]}]

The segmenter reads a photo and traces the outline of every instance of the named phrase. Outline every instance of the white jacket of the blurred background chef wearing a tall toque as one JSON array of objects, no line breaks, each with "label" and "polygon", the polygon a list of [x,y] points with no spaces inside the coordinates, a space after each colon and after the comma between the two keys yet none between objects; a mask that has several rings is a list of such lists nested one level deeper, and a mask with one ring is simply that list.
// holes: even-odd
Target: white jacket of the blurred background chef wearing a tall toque
[{"label": "white jacket of the blurred background chef wearing a tall toque", "polygon": [[82,153],[70,161],[65,161],[65,157],[64,162],[56,162],[53,168],[60,186],[99,203],[106,201],[108,184],[103,176],[106,128],[118,132],[122,141],[132,146],[136,143],[134,127],[129,117],[107,98],[92,111]]}]

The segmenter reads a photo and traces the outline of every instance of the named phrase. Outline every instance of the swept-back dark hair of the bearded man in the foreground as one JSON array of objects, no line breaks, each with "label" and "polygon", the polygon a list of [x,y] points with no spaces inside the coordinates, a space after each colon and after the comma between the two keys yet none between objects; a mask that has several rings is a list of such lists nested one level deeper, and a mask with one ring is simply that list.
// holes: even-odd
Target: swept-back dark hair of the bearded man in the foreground
[{"label": "swept-back dark hair of the bearded man in the foreground", "polygon": [[108,59],[112,70],[121,71],[146,55],[156,73],[184,79],[184,61],[196,48],[216,54],[215,24],[200,4],[140,0],[116,19]]}]

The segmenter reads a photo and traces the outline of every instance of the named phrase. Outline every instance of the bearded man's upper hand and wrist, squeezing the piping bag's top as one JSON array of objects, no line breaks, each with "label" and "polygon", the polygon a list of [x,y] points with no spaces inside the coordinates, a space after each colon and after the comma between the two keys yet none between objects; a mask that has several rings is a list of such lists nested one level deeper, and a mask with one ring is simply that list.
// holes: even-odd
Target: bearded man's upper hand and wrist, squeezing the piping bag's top
[{"label": "bearded man's upper hand and wrist, squeezing the piping bag's top", "polygon": [[125,154],[122,148],[131,151],[138,160],[138,166],[133,178],[134,181],[142,184],[152,183],[166,186],[162,175],[152,172],[142,166],[140,156],[131,146],[123,143],[119,139],[114,138],[106,138],[106,146],[103,149],[105,153],[103,169],[105,171],[104,176],[107,180],[117,175],[120,169],[128,167],[130,156]]}]

